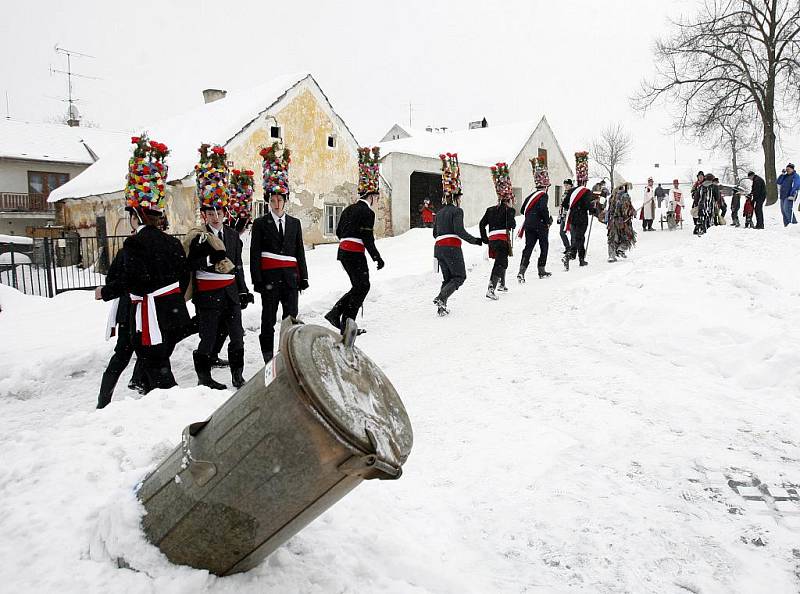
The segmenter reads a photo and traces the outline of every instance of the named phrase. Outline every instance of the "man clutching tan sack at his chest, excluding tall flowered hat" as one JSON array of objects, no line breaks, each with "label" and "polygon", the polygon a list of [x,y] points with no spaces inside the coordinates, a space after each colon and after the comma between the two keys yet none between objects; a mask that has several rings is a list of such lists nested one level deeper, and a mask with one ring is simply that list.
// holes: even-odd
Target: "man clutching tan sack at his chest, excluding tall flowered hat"
[{"label": "man clutching tan sack at his chest, excluding tall flowered hat", "polygon": [[[216,390],[225,385],[211,377],[211,359],[220,328],[228,331],[228,361],[234,387],[244,385],[244,329],[242,309],[253,301],[244,280],[242,241],[239,234],[223,225],[223,213],[202,205],[200,216],[205,223],[189,245],[189,268],[194,272],[193,298],[197,310],[200,344],[194,352],[198,385]],[[215,245],[216,244],[216,245]],[[225,259],[227,258],[227,261]],[[221,264],[223,263],[224,264]],[[232,265],[232,266],[231,266]],[[221,272],[222,269],[228,270]]]}]

